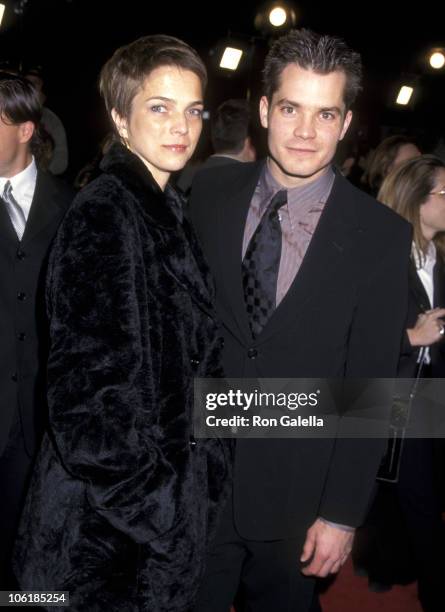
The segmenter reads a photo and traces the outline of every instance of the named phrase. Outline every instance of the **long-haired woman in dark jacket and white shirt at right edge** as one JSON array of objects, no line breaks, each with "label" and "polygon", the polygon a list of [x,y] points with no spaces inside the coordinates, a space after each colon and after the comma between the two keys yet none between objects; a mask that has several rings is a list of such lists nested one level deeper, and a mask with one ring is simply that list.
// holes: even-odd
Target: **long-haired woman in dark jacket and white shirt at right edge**
[{"label": "long-haired woman in dark jacket and white shirt at right edge", "polygon": [[[398,376],[414,379],[419,373],[422,378],[442,378],[445,376],[445,164],[433,155],[405,161],[384,180],[378,199],[413,226],[407,330]],[[421,416],[425,409],[421,396],[415,397],[412,418]],[[404,440],[398,482],[380,485],[371,513],[370,524],[373,523],[377,537],[370,538],[365,546],[367,560],[357,559],[363,553],[358,550],[360,544],[363,547],[360,536],[356,548],[358,564],[368,566],[371,580],[383,583],[400,579],[404,571],[410,570],[406,563],[408,552],[425,612],[445,609],[445,540],[440,499],[443,458],[443,440]],[[388,519],[391,513],[392,521]],[[399,535],[397,546],[394,545],[396,534]],[[391,566],[388,559],[392,560]]]}]

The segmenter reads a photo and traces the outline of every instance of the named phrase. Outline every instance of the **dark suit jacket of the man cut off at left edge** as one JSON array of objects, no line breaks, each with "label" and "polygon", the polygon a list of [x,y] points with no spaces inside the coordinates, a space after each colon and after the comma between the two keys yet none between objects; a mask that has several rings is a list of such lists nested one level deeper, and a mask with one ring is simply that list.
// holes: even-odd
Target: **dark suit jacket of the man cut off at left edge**
[{"label": "dark suit jacket of the man cut off at left edge", "polygon": [[[21,242],[0,205],[0,456],[20,411],[26,448],[35,450],[46,413],[44,367],[48,332],[44,281],[48,251],[73,192],[38,172]],[[1,202],[0,202],[1,204]]]}]

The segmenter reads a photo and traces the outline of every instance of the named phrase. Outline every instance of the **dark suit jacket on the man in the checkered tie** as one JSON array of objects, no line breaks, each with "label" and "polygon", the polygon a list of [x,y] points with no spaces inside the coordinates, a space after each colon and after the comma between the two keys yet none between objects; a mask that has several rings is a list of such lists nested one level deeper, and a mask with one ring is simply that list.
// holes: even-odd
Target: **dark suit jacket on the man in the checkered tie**
[{"label": "dark suit jacket on the man in the checkered tie", "polygon": [[[216,281],[228,377],[393,377],[406,312],[410,226],[337,175],[287,295],[252,340],[241,249],[261,163],[208,171],[191,215]],[[383,440],[238,440],[234,515],[249,539],[301,537],[317,516],[358,525]]]}]

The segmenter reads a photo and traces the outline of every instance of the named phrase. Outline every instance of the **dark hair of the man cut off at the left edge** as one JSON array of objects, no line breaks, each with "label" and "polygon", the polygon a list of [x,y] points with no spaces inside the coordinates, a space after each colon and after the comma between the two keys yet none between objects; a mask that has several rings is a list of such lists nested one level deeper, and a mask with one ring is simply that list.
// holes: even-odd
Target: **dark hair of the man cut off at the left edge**
[{"label": "dark hair of the man cut off at the left edge", "polygon": [[24,77],[0,72],[0,116],[5,123],[19,125],[31,121],[34,134],[31,152],[38,156],[41,145],[42,105],[36,88]]}]

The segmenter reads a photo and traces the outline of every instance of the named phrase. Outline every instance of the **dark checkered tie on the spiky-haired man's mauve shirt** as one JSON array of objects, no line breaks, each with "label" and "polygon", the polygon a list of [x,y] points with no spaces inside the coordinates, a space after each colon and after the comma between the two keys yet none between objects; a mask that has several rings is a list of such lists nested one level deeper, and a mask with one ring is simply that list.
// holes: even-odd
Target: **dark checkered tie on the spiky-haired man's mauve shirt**
[{"label": "dark checkered tie on the spiky-haired man's mauve shirt", "polygon": [[254,338],[260,334],[276,308],[281,258],[278,211],[286,202],[286,190],[274,195],[250,239],[242,263],[244,300]]}]

